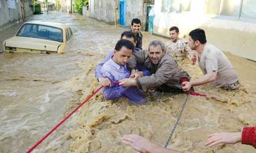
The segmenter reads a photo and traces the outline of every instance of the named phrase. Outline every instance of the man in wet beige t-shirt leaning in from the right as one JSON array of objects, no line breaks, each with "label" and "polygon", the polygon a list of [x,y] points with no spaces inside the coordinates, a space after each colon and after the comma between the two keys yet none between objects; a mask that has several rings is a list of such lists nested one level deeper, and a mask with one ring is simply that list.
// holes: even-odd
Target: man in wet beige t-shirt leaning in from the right
[{"label": "man in wet beige t-shirt leaning in from the right", "polygon": [[204,76],[190,82],[183,82],[184,91],[189,91],[193,86],[205,85],[213,82],[216,88],[228,91],[240,87],[238,75],[224,53],[214,45],[206,43],[203,29],[194,29],[189,33],[190,48],[193,51],[191,63],[198,62]]}]

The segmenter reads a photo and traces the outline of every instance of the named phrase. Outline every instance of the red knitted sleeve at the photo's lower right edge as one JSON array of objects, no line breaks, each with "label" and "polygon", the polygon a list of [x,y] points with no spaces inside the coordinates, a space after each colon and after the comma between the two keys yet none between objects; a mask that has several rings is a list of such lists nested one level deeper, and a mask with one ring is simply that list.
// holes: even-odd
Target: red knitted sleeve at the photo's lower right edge
[{"label": "red knitted sleeve at the photo's lower right edge", "polygon": [[242,133],[242,144],[249,144],[256,148],[256,126],[244,127]]}]

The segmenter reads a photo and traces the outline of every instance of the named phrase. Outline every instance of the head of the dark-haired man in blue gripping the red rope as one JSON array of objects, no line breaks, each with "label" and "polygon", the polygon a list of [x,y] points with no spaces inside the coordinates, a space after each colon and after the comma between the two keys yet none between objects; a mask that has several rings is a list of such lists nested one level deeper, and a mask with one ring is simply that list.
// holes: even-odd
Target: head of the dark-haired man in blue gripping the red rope
[{"label": "head of the dark-haired man in blue gripping the red rope", "polygon": [[119,65],[125,65],[132,55],[134,45],[129,40],[121,39],[116,43],[113,60]]}]

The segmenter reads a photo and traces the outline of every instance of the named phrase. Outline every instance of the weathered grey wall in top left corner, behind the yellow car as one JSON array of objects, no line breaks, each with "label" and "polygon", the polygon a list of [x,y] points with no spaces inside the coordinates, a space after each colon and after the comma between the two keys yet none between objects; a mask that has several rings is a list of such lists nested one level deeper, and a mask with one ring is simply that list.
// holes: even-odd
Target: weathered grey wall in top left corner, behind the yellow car
[{"label": "weathered grey wall in top left corner, behind the yellow car", "polygon": [[[9,9],[7,7],[7,1],[0,0],[0,29],[10,26],[16,22],[22,20],[20,3],[15,2],[16,9]],[[24,14],[25,18],[34,13],[33,7],[31,8],[32,1],[24,2]]]}]

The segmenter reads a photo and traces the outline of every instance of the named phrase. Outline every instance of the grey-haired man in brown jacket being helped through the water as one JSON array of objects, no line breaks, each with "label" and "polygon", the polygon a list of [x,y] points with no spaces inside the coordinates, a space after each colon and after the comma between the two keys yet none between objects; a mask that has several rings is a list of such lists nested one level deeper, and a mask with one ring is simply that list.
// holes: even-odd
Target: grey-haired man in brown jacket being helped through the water
[{"label": "grey-haired man in brown jacket being helped through the water", "polygon": [[152,75],[122,79],[119,85],[138,86],[144,91],[149,88],[158,88],[163,91],[182,91],[183,79],[190,79],[189,74],[171,57],[161,41],[152,41],[149,43],[148,51],[134,52],[133,55],[127,63],[129,70],[136,69],[137,64],[143,64]]}]

